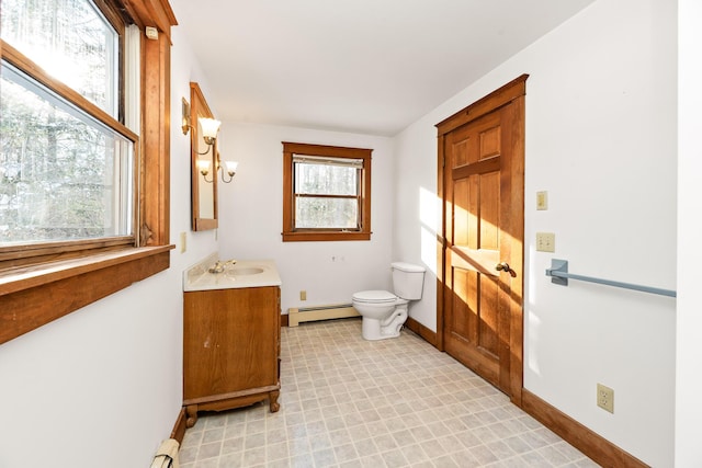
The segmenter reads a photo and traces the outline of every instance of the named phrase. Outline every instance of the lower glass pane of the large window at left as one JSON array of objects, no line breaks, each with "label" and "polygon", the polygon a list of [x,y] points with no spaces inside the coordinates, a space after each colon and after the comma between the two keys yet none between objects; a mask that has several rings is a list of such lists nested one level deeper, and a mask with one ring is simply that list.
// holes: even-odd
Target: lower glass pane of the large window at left
[{"label": "lower glass pane of the large window at left", "polygon": [[0,70],[0,246],[133,235],[134,142]]}]

